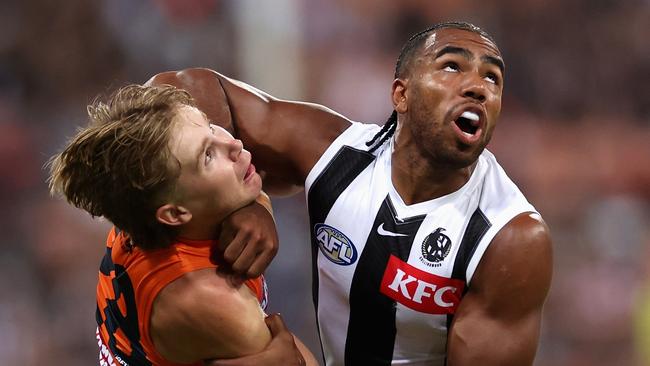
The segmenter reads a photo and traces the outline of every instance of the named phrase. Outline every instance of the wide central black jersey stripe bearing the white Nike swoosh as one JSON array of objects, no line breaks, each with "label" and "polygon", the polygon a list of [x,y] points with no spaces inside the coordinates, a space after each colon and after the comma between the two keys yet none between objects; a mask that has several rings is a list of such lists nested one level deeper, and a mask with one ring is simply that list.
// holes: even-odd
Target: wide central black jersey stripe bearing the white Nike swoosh
[{"label": "wide central black jersey stripe bearing the white Nike swoosh", "polygon": [[[396,302],[380,292],[392,255],[406,262],[426,215],[398,220],[387,196],[375,217],[350,286],[350,321],[345,342],[346,365],[390,365],[397,327]],[[385,231],[404,236],[383,236]]]}]

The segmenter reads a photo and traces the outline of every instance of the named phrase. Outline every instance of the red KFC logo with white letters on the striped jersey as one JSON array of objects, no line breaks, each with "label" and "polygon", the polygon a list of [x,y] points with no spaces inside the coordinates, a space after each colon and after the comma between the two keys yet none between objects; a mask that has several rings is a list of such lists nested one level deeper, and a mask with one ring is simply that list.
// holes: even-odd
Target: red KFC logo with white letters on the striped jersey
[{"label": "red KFC logo with white letters on the striped jersey", "polygon": [[454,314],[465,283],[436,276],[390,256],[381,280],[381,293],[413,310],[428,314]]}]

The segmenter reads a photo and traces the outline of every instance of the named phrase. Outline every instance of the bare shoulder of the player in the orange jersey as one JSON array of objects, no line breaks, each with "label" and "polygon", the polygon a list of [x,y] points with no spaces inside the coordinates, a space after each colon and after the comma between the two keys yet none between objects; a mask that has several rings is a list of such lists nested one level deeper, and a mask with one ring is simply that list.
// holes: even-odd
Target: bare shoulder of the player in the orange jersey
[{"label": "bare shoulder of the player in the orange jersey", "polygon": [[255,295],[215,269],[187,273],[161,290],[150,324],[157,351],[173,362],[255,353],[270,340]]}]

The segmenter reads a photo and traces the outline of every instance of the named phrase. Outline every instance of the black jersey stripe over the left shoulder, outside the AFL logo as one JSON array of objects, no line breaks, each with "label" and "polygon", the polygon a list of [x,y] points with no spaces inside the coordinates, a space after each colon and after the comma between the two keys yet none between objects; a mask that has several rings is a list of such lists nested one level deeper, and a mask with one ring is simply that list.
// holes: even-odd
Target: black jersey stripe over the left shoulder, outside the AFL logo
[{"label": "black jersey stripe over the left shoulder, outside the AFL logo", "polygon": [[[312,297],[317,314],[318,265],[316,260],[318,258],[318,241],[313,230],[314,226],[325,222],[325,218],[332,209],[334,202],[373,160],[375,160],[375,156],[365,150],[343,146],[309,188],[307,205],[309,207],[311,228],[309,231],[311,237]],[[320,328],[318,318],[316,318],[316,326]],[[322,349],[323,345],[321,343],[321,351]]]}]

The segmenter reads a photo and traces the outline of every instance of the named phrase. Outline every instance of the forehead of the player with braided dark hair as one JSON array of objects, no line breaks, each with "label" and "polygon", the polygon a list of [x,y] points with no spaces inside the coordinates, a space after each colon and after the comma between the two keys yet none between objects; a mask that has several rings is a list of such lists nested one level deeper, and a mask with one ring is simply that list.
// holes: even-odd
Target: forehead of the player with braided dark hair
[{"label": "forehead of the player with braided dark hair", "polygon": [[422,46],[422,54],[436,54],[445,47],[458,47],[473,53],[501,57],[501,51],[489,38],[458,28],[442,28],[431,32]]}]

